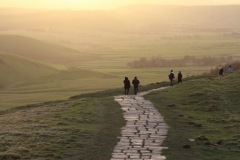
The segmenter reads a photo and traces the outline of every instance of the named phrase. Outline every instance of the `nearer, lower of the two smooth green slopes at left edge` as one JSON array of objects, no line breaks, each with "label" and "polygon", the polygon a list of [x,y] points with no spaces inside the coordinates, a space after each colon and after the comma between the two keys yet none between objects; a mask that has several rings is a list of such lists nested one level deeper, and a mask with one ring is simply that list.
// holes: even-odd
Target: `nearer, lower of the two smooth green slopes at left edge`
[{"label": "nearer, lower of the two smooth green slopes at left edge", "polygon": [[56,69],[36,61],[0,52],[0,88],[57,72]]}]

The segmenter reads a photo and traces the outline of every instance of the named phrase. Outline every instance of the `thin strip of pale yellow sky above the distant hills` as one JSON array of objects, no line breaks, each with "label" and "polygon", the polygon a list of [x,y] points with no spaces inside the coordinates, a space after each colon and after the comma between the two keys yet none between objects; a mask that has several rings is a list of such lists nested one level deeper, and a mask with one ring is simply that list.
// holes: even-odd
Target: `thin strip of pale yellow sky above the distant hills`
[{"label": "thin strip of pale yellow sky above the distant hills", "polygon": [[0,0],[0,7],[43,9],[114,9],[131,4],[222,5],[240,0]]}]

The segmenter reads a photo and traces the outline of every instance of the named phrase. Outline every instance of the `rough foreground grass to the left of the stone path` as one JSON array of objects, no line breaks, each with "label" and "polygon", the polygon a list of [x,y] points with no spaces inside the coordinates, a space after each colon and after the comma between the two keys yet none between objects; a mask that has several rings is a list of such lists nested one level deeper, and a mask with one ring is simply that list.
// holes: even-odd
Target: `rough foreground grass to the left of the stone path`
[{"label": "rough foreground grass to the left of the stone path", "polygon": [[106,95],[2,111],[0,159],[110,159],[123,125]]}]

